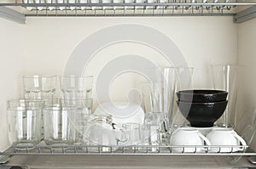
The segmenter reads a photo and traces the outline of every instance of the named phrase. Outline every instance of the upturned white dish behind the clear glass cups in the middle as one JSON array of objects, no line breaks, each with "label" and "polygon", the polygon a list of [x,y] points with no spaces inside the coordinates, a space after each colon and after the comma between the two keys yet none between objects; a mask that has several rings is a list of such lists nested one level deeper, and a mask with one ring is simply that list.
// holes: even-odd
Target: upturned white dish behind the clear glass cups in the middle
[{"label": "upturned white dish behind the clear glass cups in the middle", "polygon": [[138,104],[125,102],[99,104],[95,110],[95,115],[112,115],[113,123],[121,127],[126,122],[143,124],[144,111]]}]

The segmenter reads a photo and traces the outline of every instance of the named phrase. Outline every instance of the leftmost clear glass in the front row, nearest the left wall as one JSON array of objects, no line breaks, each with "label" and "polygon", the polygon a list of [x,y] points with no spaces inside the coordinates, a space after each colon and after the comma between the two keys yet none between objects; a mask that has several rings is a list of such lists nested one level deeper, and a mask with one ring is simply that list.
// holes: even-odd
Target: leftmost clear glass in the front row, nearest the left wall
[{"label": "leftmost clear glass in the front row, nearest the left wall", "polygon": [[9,141],[16,148],[32,147],[41,141],[44,101],[14,99],[7,102]]}]

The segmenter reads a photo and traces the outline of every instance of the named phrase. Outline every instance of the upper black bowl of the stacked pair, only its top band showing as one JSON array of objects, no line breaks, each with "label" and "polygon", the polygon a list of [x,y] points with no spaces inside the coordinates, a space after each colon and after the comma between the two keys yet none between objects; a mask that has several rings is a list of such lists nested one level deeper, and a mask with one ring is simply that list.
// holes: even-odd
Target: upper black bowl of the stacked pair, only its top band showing
[{"label": "upper black bowl of the stacked pair, only its top band showing", "polygon": [[228,93],[222,90],[182,90],[177,92],[178,101],[193,103],[223,102]]}]

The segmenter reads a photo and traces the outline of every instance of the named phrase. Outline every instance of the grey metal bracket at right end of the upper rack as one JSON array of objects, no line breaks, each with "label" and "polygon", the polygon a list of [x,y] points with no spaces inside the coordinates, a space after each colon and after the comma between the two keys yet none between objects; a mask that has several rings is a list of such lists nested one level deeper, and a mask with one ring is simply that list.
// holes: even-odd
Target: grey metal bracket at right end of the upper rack
[{"label": "grey metal bracket at right end of the upper rack", "polygon": [[256,18],[256,5],[238,12],[234,17],[234,21],[236,23],[242,23],[253,18]]}]

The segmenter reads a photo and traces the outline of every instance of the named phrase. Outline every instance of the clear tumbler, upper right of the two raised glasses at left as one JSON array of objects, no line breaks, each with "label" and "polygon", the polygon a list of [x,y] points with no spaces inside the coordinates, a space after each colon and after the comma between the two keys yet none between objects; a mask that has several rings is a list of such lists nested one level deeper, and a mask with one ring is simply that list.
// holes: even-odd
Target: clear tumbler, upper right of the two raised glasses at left
[{"label": "clear tumbler, upper right of the two raised glasses at left", "polygon": [[88,99],[91,97],[93,76],[62,76],[63,99]]}]

